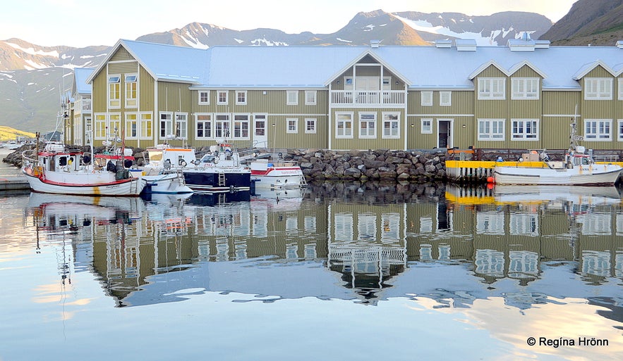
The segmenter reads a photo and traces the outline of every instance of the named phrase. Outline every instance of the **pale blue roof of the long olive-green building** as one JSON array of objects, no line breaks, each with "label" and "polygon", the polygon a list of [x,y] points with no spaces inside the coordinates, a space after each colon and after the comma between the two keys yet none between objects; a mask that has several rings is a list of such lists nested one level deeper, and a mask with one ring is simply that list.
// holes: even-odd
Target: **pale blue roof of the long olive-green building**
[{"label": "pale blue roof of the long olive-green building", "polygon": [[[490,65],[512,75],[528,65],[543,89],[579,89],[579,80],[601,65],[612,75],[623,71],[617,46],[552,46],[511,51],[478,46],[475,51],[436,46],[214,46],[194,49],[120,40],[156,80],[188,82],[194,88],[325,88],[365,56],[400,77],[409,89],[473,89],[473,78]],[[87,79],[90,82],[100,65]],[[615,70],[613,70],[615,69]]]}]

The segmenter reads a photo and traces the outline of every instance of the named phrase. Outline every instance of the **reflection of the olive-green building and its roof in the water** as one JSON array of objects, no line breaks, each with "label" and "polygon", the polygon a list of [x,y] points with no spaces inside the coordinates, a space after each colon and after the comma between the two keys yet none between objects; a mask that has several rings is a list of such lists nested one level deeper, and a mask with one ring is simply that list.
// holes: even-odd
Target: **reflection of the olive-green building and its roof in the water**
[{"label": "reflection of the olive-green building and its roof in the water", "polygon": [[454,278],[454,284],[514,281],[504,294],[519,307],[547,294],[521,289],[538,284],[544,265],[574,265],[586,284],[623,276],[617,205],[596,196],[591,203],[485,196],[493,201],[461,203],[449,195],[448,201],[376,205],[296,194],[214,206],[138,200],[127,210],[111,205],[98,211],[105,217],[72,223],[83,234],[80,247],[90,247],[90,270],[119,305],[180,300],[176,292],[188,289],[362,303],[401,291],[435,293],[455,305],[490,296],[486,287],[458,292]]}]

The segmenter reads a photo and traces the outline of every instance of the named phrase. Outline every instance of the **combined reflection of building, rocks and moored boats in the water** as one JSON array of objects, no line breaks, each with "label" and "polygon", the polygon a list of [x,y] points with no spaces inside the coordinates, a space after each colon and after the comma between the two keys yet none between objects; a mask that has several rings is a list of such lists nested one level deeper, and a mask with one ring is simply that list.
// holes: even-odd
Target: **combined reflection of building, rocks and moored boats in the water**
[{"label": "combined reflection of building, rocks and moored boats in the water", "polygon": [[233,202],[31,194],[25,220],[37,247],[69,245],[61,277],[94,273],[119,307],[205,291],[522,310],[574,297],[620,321],[621,204],[614,187],[324,183]]}]

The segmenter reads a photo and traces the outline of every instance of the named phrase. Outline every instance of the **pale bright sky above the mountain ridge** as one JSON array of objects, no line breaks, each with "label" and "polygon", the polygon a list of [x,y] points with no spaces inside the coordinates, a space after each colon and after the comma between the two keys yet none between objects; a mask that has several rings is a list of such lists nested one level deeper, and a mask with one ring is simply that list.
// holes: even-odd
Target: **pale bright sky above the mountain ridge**
[{"label": "pale bright sky above the mountain ridge", "polygon": [[[16,37],[42,46],[114,45],[198,22],[250,30],[270,27],[289,34],[329,34],[360,11],[540,13],[556,22],[577,0],[30,0],[11,1],[0,12],[0,39]],[[509,24],[512,25],[512,24]]]}]

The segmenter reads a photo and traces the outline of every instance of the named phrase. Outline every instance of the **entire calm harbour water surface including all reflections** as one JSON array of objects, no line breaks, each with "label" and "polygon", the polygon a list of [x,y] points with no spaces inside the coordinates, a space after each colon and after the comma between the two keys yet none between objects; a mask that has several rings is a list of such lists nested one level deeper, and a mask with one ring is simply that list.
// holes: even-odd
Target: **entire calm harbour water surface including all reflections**
[{"label": "entire calm harbour water surface including all reflections", "polygon": [[218,201],[0,194],[0,360],[623,355],[615,188]]}]

